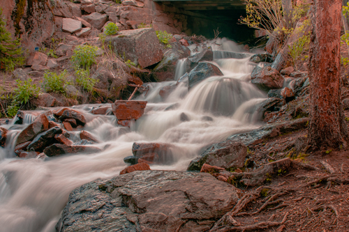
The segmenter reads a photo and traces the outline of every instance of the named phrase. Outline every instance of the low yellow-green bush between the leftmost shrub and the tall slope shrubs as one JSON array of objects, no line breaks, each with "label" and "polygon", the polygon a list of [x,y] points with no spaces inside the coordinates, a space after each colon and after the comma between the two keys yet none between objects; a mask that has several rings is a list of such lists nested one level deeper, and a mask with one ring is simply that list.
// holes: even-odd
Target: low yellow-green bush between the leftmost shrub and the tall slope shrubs
[{"label": "low yellow-green bush between the leftmost shrub and the tall slope shrubs", "polygon": [[59,75],[57,72],[45,72],[43,88],[47,92],[65,93],[64,85],[69,84],[67,81],[67,71],[64,70]]}]

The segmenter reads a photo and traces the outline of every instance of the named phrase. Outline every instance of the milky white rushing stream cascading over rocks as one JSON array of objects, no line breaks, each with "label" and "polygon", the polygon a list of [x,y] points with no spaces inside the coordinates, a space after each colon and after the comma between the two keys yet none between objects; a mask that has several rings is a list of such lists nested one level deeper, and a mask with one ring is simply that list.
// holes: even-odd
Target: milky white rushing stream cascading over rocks
[{"label": "milky white rushing stream cascading over rocks", "polygon": [[[221,42],[221,46],[216,45]],[[218,40],[216,50],[241,52],[234,42]],[[96,178],[110,178],[126,167],[123,159],[132,155],[133,142],[164,142],[173,144],[174,163],[153,165],[151,169],[184,171],[189,162],[207,146],[225,140],[232,134],[253,130],[260,126],[256,105],[266,95],[251,84],[254,65],[246,59],[215,59],[223,77],[210,77],[188,91],[185,84],[166,98],[158,92],[176,82],[151,83],[144,116],[131,124],[131,129],[117,125],[115,116],[90,114],[96,105],[75,107],[86,116],[84,130],[94,134],[105,148],[90,155],[64,155],[40,159],[20,159],[13,153],[16,134],[34,120],[27,116],[24,125],[4,125],[10,128],[6,148],[0,148],[0,231],[36,232],[55,231],[61,210],[75,188]],[[184,74],[182,61],[178,62],[176,78]],[[167,110],[174,103],[177,109]],[[181,114],[189,121],[181,121]],[[208,120],[209,118],[209,120]],[[78,141],[78,132],[70,139]]]}]

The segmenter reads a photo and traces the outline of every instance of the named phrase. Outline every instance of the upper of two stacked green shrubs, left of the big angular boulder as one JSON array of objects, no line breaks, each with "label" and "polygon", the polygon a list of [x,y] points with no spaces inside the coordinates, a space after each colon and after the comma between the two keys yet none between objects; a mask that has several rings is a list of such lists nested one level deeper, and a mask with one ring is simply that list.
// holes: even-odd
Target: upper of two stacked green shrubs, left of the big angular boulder
[{"label": "upper of two stacked green shrubs, left of the big angular boulder", "polygon": [[96,63],[98,47],[91,45],[79,45],[74,49],[71,56],[71,62],[77,68],[89,69],[92,64]]}]

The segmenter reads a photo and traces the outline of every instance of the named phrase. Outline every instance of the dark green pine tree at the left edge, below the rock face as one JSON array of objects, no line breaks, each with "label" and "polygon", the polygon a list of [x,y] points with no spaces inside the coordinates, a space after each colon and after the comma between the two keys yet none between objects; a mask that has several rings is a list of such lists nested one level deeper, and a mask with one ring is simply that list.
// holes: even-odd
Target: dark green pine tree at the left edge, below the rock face
[{"label": "dark green pine tree at the left edge, below the rock face", "polygon": [[0,8],[0,69],[13,70],[15,66],[22,65],[24,57],[21,56],[20,39],[13,40],[5,25]]}]

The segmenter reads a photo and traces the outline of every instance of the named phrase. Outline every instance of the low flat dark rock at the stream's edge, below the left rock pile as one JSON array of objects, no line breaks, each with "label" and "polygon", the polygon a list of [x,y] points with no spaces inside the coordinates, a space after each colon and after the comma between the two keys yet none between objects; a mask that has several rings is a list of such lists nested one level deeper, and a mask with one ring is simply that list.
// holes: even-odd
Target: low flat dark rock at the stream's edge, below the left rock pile
[{"label": "low flat dark rock at the stream's edge, below the left rock pile", "polygon": [[65,144],[53,144],[43,150],[43,153],[48,157],[66,155],[66,154],[76,154],[76,153],[99,153],[100,148],[94,146],[67,146]]}]

